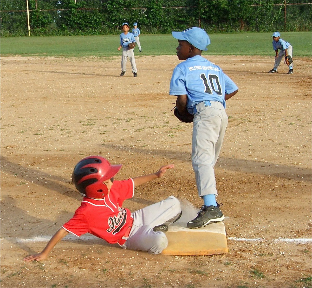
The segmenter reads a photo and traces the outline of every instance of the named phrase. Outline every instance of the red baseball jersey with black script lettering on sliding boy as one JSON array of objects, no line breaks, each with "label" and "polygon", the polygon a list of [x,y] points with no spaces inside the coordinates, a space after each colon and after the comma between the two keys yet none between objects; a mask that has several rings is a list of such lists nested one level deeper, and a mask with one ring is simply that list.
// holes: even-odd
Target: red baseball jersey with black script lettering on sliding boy
[{"label": "red baseball jersey with black script lettering on sliding boy", "polygon": [[73,218],[62,227],[78,237],[89,232],[108,243],[117,243],[126,233],[131,216],[130,210],[121,206],[125,199],[133,195],[134,182],[131,178],[114,181],[104,199],[84,197]]}]

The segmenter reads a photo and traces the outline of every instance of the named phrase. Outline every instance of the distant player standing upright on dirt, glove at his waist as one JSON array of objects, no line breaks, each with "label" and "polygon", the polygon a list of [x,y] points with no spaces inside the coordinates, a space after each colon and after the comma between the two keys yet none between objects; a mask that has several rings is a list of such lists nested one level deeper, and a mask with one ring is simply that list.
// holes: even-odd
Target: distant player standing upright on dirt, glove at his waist
[{"label": "distant player standing upright on dirt, glove at his waist", "polygon": [[122,47],[120,76],[124,76],[124,73],[126,73],[126,64],[129,58],[133,76],[138,77],[137,74],[138,70],[135,65],[133,49],[128,50],[128,44],[135,43],[134,35],[131,32],[129,32],[129,29],[130,26],[128,23],[122,23],[121,30],[124,32],[120,34],[120,46],[117,48],[118,50],[120,50]]}]

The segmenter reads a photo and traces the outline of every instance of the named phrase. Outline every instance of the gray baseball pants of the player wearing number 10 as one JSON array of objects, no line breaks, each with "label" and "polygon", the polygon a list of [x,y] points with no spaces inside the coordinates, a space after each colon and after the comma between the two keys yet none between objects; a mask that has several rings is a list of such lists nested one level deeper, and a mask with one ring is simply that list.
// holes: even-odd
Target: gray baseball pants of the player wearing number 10
[{"label": "gray baseball pants of the player wearing number 10", "polygon": [[192,165],[198,196],[218,195],[213,167],[227,128],[227,114],[222,103],[210,103],[211,107],[204,102],[197,104],[193,120]]}]

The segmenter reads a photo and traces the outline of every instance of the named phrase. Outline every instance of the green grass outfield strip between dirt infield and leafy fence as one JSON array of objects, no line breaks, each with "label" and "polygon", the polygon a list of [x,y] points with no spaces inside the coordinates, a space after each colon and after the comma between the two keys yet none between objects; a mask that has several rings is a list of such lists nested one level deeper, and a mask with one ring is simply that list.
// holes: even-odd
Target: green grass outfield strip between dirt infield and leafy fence
[{"label": "green grass outfield strip between dirt infield and leafy fence", "polygon": [[[272,56],[272,33],[210,34],[211,45],[203,55],[259,55]],[[293,46],[295,57],[311,57],[312,32],[285,32],[281,38]],[[142,54],[174,55],[178,40],[171,35],[142,34]],[[119,56],[119,35],[2,37],[2,56],[56,56],[56,57],[112,57]]]}]

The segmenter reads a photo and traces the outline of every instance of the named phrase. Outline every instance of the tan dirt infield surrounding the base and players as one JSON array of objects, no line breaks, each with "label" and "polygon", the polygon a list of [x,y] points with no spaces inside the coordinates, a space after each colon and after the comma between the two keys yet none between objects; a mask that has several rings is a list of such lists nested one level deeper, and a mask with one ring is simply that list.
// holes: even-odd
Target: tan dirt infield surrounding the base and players
[{"label": "tan dirt infield surrounding the base and players", "polygon": [[229,253],[150,255],[68,235],[26,263],[80,205],[71,172],[85,156],[123,163],[119,180],[175,164],[136,188],[130,210],[170,195],[202,201],[192,125],[170,111],[176,56],[137,57],[138,78],[130,63],[119,76],[119,57],[2,57],[2,287],[311,287],[311,59],[295,58],[292,75],[284,64],[267,73],[272,58],[209,59],[239,87],[215,167]]}]

